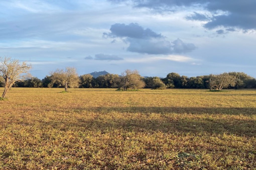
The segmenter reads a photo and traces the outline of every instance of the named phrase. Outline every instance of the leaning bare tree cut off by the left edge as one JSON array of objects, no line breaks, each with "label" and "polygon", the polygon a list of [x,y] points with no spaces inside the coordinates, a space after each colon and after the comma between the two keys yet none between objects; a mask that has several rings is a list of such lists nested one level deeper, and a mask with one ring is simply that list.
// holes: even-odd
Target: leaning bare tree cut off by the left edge
[{"label": "leaning bare tree cut off by the left edge", "polygon": [[21,78],[21,74],[28,72],[30,68],[30,64],[27,64],[26,62],[20,63],[18,59],[0,57],[0,75],[4,79],[5,87],[2,98],[5,98],[7,92],[13,86],[15,81]]}]

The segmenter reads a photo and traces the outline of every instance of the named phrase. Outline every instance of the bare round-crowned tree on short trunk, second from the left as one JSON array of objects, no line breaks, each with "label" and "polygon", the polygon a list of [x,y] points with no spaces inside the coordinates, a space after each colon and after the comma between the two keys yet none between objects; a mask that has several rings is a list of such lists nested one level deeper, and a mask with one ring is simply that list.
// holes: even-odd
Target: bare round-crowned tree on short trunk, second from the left
[{"label": "bare round-crowned tree on short trunk, second from the left", "polygon": [[57,83],[60,86],[64,86],[65,91],[68,91],[68,87],[78,87],[79,77],[76,73],[76,69],[73,67],[66,67],[66,69],[56,69],[51,72],[51,84]]}]

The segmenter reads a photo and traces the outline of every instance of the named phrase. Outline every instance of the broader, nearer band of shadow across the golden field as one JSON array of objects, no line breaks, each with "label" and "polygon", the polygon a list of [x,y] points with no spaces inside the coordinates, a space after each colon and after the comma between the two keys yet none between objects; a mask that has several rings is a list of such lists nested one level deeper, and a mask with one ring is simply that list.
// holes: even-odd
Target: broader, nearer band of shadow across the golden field
[{"label": "broader, nearer band of shadow across the golden field", "polygon": [[213,119],[213,118],[171,118],[161,117],[158,119],[104,119],[97,117],[91,120],[80,119],[75,126],[83,126],[101,131],[109,129],[125,129],[129,131],[162,131],[164,133],[217,133],[236,134],[244,136],[256,136],[255,120],[237,119]]}]

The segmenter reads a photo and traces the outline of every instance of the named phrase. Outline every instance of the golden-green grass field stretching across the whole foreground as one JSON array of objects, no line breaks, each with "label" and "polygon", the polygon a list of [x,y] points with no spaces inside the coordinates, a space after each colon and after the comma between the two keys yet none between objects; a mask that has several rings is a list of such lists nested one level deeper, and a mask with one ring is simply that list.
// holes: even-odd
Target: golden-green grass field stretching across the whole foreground
[{"label": "golden-green grass field stretching across the whole foreground", "polygon": [[62,90],[0,101],[0,169],[256,169],[256,90]]}]

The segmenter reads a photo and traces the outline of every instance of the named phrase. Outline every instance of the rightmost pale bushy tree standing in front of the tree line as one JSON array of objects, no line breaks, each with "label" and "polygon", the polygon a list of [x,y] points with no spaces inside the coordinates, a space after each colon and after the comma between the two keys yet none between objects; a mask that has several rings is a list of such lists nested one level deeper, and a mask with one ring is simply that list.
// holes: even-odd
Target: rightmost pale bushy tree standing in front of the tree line
[{"label": "rightmost pale bushy tree standing in front of the tree line", "polygon": [[233,87],[236,83],[236,77],[226,72],[217,75],[210,75],[210,90],[221,90],[222,88]]}]

